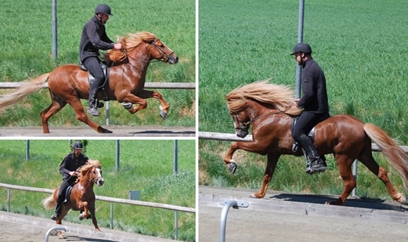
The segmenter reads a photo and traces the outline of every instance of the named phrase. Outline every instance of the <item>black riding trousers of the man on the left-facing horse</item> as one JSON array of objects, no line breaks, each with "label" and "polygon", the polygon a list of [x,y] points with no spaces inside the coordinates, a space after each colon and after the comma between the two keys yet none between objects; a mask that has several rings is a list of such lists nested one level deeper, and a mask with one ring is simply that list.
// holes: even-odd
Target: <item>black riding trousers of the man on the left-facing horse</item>
[{"label": "black riding trousers of the man on the left-facing horse", "polygon": [[303,111],[302,114],[300,114],[295,127],[293,127],[293,140],[305,149],[305,152],[311,161],[319,159],[320,156],[317,153],[317,149],[314,147],[312,140],[310,140],[310,137],[307,135],[317,123],[324,121],[324,119],[327,118],[329,118],[329,112],[317,114],[314,112]]}]

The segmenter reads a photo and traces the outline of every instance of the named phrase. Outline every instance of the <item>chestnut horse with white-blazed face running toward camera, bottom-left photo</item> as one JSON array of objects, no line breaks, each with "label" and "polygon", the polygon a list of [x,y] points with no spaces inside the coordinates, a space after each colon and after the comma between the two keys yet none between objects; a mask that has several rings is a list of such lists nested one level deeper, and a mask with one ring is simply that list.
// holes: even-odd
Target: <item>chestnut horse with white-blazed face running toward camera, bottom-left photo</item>
[{"label": "chestnut horse with white-blazed face running toward camera, bottom-left photo", "polygon": [[[79,210],[83,212],[79,216],[79,220],[88,218],[90,215],[96,231],[101,231],[95,217],[94,194],[94,184],[102,186],[104,182],[101,163],[99,163],[99,161],[89,160],[86,165],[79,168],[79,173],[80,175],[77,179],[77,183],[72,187],[70,197],[62,204],[61,213],[57,217],[56,223],[61,224],[70,209]],[[53,191],[51,196],[42,201],[44,208],[47,210],[56,207],[58,189],[59,187]]]}]

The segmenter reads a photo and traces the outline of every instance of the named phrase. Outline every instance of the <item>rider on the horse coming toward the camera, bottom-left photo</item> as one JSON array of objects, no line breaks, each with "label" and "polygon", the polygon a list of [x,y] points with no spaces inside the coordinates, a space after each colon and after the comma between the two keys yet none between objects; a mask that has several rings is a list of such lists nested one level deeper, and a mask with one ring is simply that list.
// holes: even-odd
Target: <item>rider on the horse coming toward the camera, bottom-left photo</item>
[{"label": "rider on the horse coming toward the camera, bottom-left photo", "polygon": [[57,217],[61,213],[61,204],[65,200],[65,191],[69,186],[73,186],[77,180],[79,173],[78,168],[84,166],[88,162],[88,157],[82,154],[82,142],[75,141],[72,144],[73,152],[67,154],[63,161],[60,163],[60,173],[63,175],[63,182],[60,184],[58,191],[58,199],[56,205],[56,211],[51,216],[51,220],[57,220]]}]

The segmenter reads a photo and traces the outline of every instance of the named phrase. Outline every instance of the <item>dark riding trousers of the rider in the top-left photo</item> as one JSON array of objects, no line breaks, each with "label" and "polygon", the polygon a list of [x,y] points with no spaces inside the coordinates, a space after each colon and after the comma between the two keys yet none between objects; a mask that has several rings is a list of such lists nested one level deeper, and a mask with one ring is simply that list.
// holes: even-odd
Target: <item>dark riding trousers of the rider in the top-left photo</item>
[{"label": "dark riding trousers of the rider in the top-left photo", "polygon": [[[95,81],[91,84],[91,90],[89,91],[89,107],[91,107],[91,105],[97,105],[95,102],[96,92],[98,91],[98,86],[103,84],[103,79],[105,79],[100,63],[101,60],[94,56],[91,56],[82,62],[82,64],[87,67],[88,71],[95,76]],[[95,102],[95,104],[92,102]]]}]

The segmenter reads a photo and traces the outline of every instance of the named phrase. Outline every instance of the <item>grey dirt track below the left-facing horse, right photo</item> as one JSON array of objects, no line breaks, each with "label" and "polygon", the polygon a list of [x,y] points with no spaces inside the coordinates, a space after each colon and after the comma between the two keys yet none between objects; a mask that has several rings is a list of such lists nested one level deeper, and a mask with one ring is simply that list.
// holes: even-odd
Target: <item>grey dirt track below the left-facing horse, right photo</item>
[{"label": "grey dirt track below the left-facing horse, right photo", "polygon": [[408,238],[408,208],[394,201],[349,199],[326,206],[334,196],[198,187],[198,241],[219,241],[220,199],[243,200],[248,208],[230,208],[225,241],[397,242]]}]

